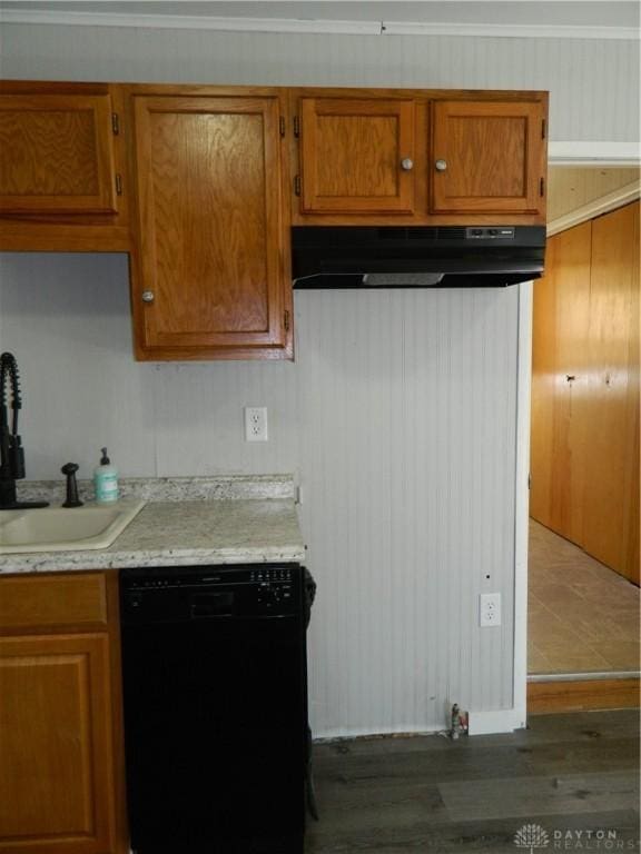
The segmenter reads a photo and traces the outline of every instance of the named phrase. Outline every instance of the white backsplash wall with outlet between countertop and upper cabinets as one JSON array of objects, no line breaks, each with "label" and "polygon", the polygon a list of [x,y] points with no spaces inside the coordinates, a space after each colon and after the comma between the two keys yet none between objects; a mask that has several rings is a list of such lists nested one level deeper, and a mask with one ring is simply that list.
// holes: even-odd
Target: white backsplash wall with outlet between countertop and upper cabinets
[{"label": "white backsplash wall with outlet between countertop and upper cabinets", "polygon": [[[0,255],[0,346],[16,354],[30,479],[89,477],[108,445],[121,474],[294,473],[294,366],[134,360],[125,255]],[[267,406],[246,443],[243,407]]]}]

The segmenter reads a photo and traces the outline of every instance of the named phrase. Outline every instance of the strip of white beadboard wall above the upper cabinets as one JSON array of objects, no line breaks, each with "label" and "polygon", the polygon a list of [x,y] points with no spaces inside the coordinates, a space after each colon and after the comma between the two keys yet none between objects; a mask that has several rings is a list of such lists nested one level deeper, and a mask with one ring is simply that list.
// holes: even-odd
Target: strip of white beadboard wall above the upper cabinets
[{"label": "strip of white beadboard wall above the upper cabinets", "polygon": [[10,23],[3,31],[7,78],[549,89],[552,140],[639,138],[639,41]]}]

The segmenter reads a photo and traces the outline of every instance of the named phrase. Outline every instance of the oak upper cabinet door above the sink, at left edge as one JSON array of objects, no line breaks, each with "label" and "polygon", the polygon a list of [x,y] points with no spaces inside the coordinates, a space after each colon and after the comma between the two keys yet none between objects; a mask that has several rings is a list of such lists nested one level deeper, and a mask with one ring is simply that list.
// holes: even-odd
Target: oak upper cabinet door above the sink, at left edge
[{"label": "oak upper cabinet door above the sink, at left edge", "polygon": [[0,212],[116,214],[111,98],[0,95]]}]

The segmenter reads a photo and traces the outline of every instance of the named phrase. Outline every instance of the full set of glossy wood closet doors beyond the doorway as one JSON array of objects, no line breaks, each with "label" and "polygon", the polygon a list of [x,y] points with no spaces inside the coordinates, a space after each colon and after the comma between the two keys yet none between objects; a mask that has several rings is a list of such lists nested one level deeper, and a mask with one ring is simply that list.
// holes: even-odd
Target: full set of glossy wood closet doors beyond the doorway
[{"label": "full set of glossy wood closet doors beyond the doorway", "polygon": [[549,241],[534,288],[531,514],[639,583],[639,202]]}]

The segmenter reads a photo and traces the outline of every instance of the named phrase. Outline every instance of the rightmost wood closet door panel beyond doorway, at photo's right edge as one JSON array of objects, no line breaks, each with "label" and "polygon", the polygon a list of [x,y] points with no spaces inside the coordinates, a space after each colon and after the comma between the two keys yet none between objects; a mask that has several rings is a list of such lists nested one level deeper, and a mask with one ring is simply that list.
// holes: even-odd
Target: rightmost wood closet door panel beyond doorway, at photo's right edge
[{"label": "rightmost wood closet door panel beyond doorway, at photo's right edge", "polygon": [[639,583],[639,202],[592,224],[583,546]]}]

